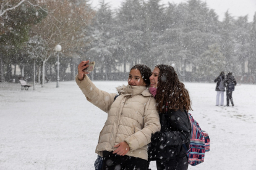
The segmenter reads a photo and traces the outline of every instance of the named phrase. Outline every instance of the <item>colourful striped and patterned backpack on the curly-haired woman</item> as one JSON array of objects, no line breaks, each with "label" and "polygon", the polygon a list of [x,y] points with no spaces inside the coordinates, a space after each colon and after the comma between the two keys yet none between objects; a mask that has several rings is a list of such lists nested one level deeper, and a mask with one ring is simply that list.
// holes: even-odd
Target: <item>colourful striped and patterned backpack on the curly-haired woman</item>
[{"label": "colourful striped and patterned backpack on the curly-haired woman", "polygon": [[196,166],[197,164],[203,163],[205,159],[205,152],[210,151],[210,138],[207,132],[202,131],[199,124],[190,113],[188,113],[188,116],[191,124],[189,150],[187,150],[185,144],[183,144],[183,147],[187,150],[189,164]]}]

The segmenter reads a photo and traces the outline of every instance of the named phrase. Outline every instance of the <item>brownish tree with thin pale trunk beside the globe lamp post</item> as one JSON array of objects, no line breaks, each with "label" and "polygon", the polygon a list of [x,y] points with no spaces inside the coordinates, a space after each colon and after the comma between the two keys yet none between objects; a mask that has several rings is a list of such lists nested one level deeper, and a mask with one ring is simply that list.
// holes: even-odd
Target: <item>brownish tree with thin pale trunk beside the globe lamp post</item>
[{"label": "brownish tree with thin pale trunk beside the globe lamp post", "polygon": [[54,47],[62,46],[62,54],[72,56],[87,34],[87,26],[93,17],[93,11],[87,2],[75,3],[72,1],[47,1],[43,6],[48,9],[48,17],[41,23],[33,26],[32,35],[40,34],[46,41],[46,55],[41,56],[43,62],[42,87],[45,81],[45,63],[54,56]]}]

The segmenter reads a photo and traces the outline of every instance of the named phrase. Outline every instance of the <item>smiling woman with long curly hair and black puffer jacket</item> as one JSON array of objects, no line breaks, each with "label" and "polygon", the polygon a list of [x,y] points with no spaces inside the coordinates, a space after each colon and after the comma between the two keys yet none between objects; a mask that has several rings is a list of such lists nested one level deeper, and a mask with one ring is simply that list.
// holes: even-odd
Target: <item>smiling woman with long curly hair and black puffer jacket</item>
[{"label": "smiling woman with long curly hair and black puffer jacket", "polygon": [[[156,168],[187,170],[187,149],[191,124],[187,111],[192,110],[189,92],[169,65],[156,65],[150,76],[150,92],[156,99],[161,131],[151,136],[148,160]],[[186,147],[184,147],[184,144]]]}]

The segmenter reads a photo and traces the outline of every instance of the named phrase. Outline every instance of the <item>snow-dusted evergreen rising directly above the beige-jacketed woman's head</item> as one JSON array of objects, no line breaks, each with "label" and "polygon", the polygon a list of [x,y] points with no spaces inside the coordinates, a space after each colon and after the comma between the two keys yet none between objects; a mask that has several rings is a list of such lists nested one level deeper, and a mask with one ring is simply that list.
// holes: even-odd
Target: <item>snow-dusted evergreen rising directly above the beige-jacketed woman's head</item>
[{"label": "snow-dusted evergreen rising directly above the beige-jacketed woman's head", "polygon": [[142,4],[139,0],[127,0],[122,2],[121,8],[117,12],[117,25],[120,28],[116,36],[120,41],[121,63],[130,63],[130,67],[139,63],[143,57],[145,31],[145,18],[143,18]]}]

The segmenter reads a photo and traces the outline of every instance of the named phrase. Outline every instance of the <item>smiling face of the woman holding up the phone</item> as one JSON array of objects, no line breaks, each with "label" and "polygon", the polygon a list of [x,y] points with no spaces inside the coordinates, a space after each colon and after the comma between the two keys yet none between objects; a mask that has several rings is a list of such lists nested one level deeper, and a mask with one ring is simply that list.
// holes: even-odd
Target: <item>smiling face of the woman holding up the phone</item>
[{"label": "smiling face of the woman holding up the phone", "polygon": [[146,83],[142,79],[142,75],[140,75],[140,71],[138,69],[130,70],[128,84],[130,86],[146,86]]}]

